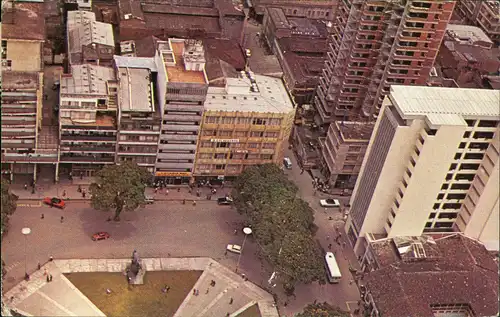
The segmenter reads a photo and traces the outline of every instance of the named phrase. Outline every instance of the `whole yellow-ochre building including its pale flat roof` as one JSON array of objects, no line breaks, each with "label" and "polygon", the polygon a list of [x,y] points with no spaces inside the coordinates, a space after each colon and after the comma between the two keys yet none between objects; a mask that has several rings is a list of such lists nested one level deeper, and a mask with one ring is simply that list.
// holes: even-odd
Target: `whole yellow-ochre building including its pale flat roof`
[{"label": "whole yellow-ochre building including its pale flat roof", "polygon": [[281,164],[293,117],[281,79],[241,72],[210,87],[194,176],[232,179],[249,165]]}]

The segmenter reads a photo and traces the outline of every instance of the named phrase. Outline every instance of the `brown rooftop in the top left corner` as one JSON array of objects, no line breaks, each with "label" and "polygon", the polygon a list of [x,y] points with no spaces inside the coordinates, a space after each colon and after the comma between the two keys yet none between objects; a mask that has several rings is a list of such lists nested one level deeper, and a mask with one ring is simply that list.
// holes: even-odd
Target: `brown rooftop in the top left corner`
[{"label": "brown rooftop in the top left corner", "polygon": [[2,5],[2,39],[45,40],[44,3],[12,1],[12,8]]}]

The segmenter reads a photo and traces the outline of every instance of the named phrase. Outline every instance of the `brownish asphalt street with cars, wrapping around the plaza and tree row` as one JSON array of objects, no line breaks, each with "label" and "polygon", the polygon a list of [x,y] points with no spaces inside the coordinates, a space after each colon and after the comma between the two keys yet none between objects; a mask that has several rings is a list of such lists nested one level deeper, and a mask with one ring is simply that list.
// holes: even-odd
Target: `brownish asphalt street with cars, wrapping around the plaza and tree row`
[{"label": "brownish asphalt street with cars, wrapping around the plaza and tree row", "polygon": [[[297,285],[295,297],[286,297],[279,286],[271,288],[267,280],[272,268],[259,259],[258,245],[250,236],[245,244],[238,272],[245,273],[255,284],[278,295],[278,306],[282,315],[292,316],[315,300],[327,301],[343,309],[347,303],[355,303],[359,294],[349,265],[355,264],[352,250],[347,244],[335,243],[335,226],[342,226],[342,215],[336,208],[325,210],[319,206],[319,199],[327,195],[314,194],[311,177],[301,174],[295,157],[290,151],[293,169],[285,173],[300,189],[300,196],[315,210],[318,226],[316,239],[325,251],[332,244],[343,278],[339,284]],[[136,249],[141,257],[211,257],[230,269],[235,269],[238,256],[224,255],[229,243],[242,244],[242,222],[244,218],[230,206],[219,206],[215,200],[200,200],[194,206],[189,200],[192,195],[183,188],[187,204],[180,200],[156,201],[153,205],[133,212],[123,212],[120,222],[107,221],[111,212],[93,210],[89,202],[68,201],[65,210],[50,208],[37,201],[19,201],[19,206],[11,217],[10,229],[2,241],[2,258],[6,262],[6,290],[17,284],[24,276],[24,237],[21,229],[31,228],[27,236],[27,269],[33,272],[38,262],[44,263],[50,256],[56,259],[71,258],[126,258]],[[43,196],[43,195],[41,195]],[[336,197],[346,204],[348,198]],[[192,198],[191,198],[192,199]],[[44,214],[44,219],[41,215]],[[61,222],[61,216],[64,217]],[[332,217],[333,220],[330,220]],[[234,234],[234,230],[238,234]],[[94,242],[93,233],[106,231],[109,240]]]}]

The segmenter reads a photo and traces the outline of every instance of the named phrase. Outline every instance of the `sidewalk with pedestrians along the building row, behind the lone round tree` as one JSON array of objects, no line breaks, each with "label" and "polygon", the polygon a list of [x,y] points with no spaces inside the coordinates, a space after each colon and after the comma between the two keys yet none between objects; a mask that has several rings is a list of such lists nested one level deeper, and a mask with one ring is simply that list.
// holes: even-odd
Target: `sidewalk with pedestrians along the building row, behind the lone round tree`
[{"label": "sidewalk with pedestrians along the building row, behind the lone round tree", "polygon": [[[89,198],[89,188],[90,182],[89,179],[74,179],[72,183],[69,181],[65,181],[63,184],[37,184],[35,193],[32,194],[31,186],[28,186],[28,189],[24,189],[24,184],[12,184],[10,188],[12,193],[19,197],[19,200],[37,200],[41,201],[44,197],[59,197],[66,200],[73,201],[88,201]],[[83,198],[82,193],[78,192],[78,186],[82,188],[87,194],[85,198]],[[212,200],[215,201],[219,197],[224,197],[231,193],[231,188],[224,187],[215,187],[217,189],[217,193],[212,195]],[[178,187],[178,188],[168,188],[167,189],[159,189],[157,193],[155,193],[154,188],[146,188],[146,196],[153,197],[158,201],[181,201],[186,199],[187,201],[192,200],[206,200],[207,195],[210,193],[210,189],[208,187],[200,188],[200,197],[196,195],[195,188],[192,193],[189,193],[189,188],[187,187]]]}]

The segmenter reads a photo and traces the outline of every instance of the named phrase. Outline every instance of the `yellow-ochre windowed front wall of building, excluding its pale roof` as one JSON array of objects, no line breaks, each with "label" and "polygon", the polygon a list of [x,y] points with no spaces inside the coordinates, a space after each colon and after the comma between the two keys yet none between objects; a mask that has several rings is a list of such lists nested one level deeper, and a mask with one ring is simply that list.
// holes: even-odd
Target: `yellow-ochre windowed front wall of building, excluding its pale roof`
[{"label": "yellow-ochre windowed front wall of building, excluding its pale roof", "polygon": [[[293,117],[293,111],[205,111],[196,155],[195,176],[232,177],[239,175],[246,166],[280,164]],[[262,124],[263,120],[265,124]],[[227,142],[223,142],[224,140]]]}]

